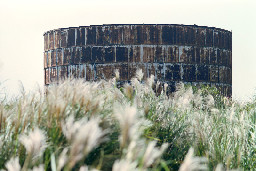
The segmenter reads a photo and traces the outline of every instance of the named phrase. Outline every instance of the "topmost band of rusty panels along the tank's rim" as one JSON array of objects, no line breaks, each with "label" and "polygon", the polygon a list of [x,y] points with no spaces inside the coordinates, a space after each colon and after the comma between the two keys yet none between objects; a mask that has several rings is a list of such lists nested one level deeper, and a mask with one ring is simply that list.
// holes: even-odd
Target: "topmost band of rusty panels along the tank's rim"
[{"label": "topmost band of rusty panels along the tank's rim", "polygon": [[197,45],[232,49],[232,33],[196,25],[102,25],[52,30],[45,51],[83,45]]}]

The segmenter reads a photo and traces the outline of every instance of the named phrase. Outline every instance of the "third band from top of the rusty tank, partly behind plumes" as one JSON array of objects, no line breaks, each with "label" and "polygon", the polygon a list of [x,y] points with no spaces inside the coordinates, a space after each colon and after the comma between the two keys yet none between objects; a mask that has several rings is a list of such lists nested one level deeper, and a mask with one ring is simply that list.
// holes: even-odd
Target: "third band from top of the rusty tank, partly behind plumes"
[{"label": "third band from top of the rusty tank, partly behind plumes", "polygon": [[[140,68],[144,79],[151,74],[160,81],[188,81],[232,84],[232,70],[214,65],[187,64],[151,64],[151,63],[115,63],[115,64],[81,64],[56,66],[45,69],[46,84],[49,79],[77,77],[86,80],[111,79],[114,71],[120,71],[120,80],[131,80]],[[51,81],[50,81],[51,82]]]}]

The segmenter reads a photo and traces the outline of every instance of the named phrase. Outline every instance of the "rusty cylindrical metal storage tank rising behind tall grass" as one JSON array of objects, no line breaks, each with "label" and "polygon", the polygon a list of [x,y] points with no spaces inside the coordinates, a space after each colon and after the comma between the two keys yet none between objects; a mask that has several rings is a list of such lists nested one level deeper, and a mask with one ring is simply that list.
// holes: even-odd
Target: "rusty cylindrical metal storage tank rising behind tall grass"
[{"label": "rusty cylindrical metal storage tank rising behind tall grass", "polygon": [[232,33],[197,25],[107,24],[44,33],[45,85],[66,77],[130,80],[145,77],[216,86],[232,95]]}]

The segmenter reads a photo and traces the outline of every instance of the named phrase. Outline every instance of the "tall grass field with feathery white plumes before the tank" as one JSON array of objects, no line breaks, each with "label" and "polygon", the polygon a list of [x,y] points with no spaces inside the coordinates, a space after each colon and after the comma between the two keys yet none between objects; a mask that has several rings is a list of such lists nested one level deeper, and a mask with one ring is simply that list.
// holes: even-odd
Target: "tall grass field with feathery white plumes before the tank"
[{"label": "tall grass field with feathery white plumes before the tank", "polygon": [[154,76],[130,84],[66,80],[0,103],[0,169],[254,170],[256,101]]}]

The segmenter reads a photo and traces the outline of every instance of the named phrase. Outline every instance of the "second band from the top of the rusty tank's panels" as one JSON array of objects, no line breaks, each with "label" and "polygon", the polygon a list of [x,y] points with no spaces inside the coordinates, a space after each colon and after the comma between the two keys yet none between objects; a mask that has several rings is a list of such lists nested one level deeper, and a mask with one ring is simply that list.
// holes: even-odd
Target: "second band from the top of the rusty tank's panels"
[{"label": "second band from the top of the rusty tank's panels", "polygon": [[232,52],[214,47],[114,45],[59,48],[44,53],[44,67],[84,63],[187,63],[232,68]]}]

